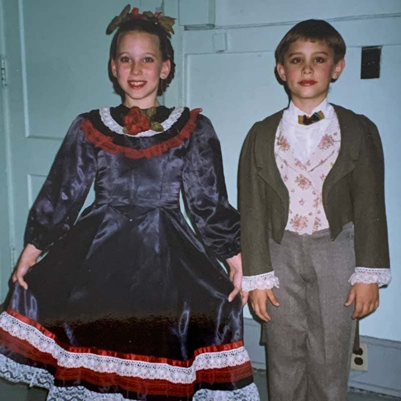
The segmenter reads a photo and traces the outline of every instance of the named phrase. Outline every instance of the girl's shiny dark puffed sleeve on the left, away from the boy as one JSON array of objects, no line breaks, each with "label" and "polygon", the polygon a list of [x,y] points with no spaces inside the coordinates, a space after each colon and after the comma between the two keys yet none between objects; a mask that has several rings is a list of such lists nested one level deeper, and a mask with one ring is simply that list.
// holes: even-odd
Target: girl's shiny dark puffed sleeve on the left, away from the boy
[{"label": "girl's shiny dark puffed sleeve on the left, away from the boy", "polygon": [[28,216],[25,244],[46,250],[74,225],[96,172],[93,145],[82,129],[82,116],[71,124],[49,175]]}]

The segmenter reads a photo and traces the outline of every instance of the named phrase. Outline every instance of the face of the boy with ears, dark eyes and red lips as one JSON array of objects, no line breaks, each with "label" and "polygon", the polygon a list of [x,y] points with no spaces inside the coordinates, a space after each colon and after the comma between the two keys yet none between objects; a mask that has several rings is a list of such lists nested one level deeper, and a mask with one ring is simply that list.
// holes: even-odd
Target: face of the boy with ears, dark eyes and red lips
[{"label": "face of the boy with ears, dark eyes and red lips", "polygon": [[334,63],[334,51],[326,42],[298,39],[284,55],[284,64],[277,64],[277,72],[295,106],[308,112],[326,98],[331,79],[337,79],[344,66],[344,59]]}]

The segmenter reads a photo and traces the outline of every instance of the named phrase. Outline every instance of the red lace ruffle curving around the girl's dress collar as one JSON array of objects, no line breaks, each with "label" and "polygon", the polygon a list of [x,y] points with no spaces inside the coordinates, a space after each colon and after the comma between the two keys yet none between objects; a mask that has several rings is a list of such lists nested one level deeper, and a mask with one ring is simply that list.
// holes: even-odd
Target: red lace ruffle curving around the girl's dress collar
[{"label": "red lace ruffle curving around the girl's dress collar", "polygon": [[123,153],[130,159],[140,159],[142,157],[150,159],[155,156],[160,156],[171,148],[178,147],[185,139],[189,138],[196,128],[196,118],[201,111],[202,109],[193,109],[189,112],[189,120],[182,127],[178,135],[145,149],[132,149],[127,146],[116,145],[113,143],[113,137],[102,134],[88,119],[82,121],[81,128],[88,140],[107,153]]}]

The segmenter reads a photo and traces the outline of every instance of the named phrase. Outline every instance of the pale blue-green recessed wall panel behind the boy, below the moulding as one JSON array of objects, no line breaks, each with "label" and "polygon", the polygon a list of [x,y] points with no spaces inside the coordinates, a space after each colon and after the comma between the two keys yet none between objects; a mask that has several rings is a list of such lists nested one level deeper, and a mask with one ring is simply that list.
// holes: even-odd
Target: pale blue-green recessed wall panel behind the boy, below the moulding
[{"label": "pale blue-green recessed wall panel behind the boy, below the moulding", "polygon": [[[344,20],[333,24],[344,36],[346,68],[338,82],[331,84],[329,100],[369,116],[378,126],[385,155],[386,207],[390,238],[390,259],[401,261],[396,244],[401,226],[399,198],[399,93],[401,78],[401,19]],[[372,29],[374,26],[374,29]],[[287,105],[287,95],[274,76],[274,50],[288,25],[221,28],[184,31],[184,97],[190,107],[202,107],[211,118],[222,143],[225,176],[230,201],[237,201],[237,166],[242,142],[255,121]],[[226,35],[227,50],[214,51],[214,35]],[[361,47],[381,45],[379,79],[360,79]],[[398,263],[397,263],[398,262]],[[399,275],[398,275],[399,276]],[[380,296],[391,305],[400,277],[395,275]],[[363,334],[393,338],[396,322],[391,308],[380,308],[376,319],[361,322]],[[380,315],[380,316],[379,316]],[[245,310],[245,316],[251,317]],[[395,338],[397,339],[397,338]]]}]

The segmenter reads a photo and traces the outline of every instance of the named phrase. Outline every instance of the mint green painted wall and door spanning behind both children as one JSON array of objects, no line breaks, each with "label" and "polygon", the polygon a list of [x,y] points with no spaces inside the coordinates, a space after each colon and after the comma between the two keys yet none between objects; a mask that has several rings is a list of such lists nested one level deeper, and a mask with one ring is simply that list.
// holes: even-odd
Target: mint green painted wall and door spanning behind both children
[{"label": "mint green painted wall and door spanning behind both children", "polygon": [[[16,247],[17,251],[22,247],[29,204],[47,173],[68,124],[79,112],[118,102],[106,75],[110,38],[104,35],[104,29],[126,3],[126,0],[0,0],[2,16],[5,11],[9,13],[6,13],[7,21],[1,21],[0,53],[9,56],[11,81],[9,88],[1,90],[0,96],[0,185],[6,188],[9,183],[7,194],[0,198],[0,210],[3,211],[0,228],[2,297],[12,268],[9,246]],[[294,5],[298,2],[290,0],[142,0],[135,5],[142,10],[155,10],[162,3],[165,13],[178,19],[173,37],[176,78],[165,95],[165,103],[203,107],[212,117],[222,139],[228,190],[233,204],[236,204],[237,197],[238,154],[246,131],[254,120],[285,105],[286,96],[272,78],[272,51],[277,42],[294,22],[310,17],[331,19],[344,35],[349,44],[347,67],[343,77],[333,86],[330,100],[365,112],[382,132],[394,275],[389,288],[380,292],[380,309],[362,321],[361,331],[373,337],[401,340],[401,322],[394,318],[401,308],[401,252],[398,247],[401,221],[397,176],[400,164],[397,156],[399,136],[396,134],[399,80],[394,80],[391,91],[380,93],[380,83],[391,82],[399,70],[399,59],[396,58],[399,52],[396,49],[401,43],[401,2],[340,0],[334,4],[326,0],[306,0],[303,8],[296,12]],[[25,59],[19,48],[19,8],[24,11]],[[215,24],[216,29],[199,30],[211,24]],[[184,30],[184,26],[190,26],[191,30]],[[213,35],[222,33],[227,34],[227,51],[216,53],[212,46]],[[364,82],[362,95],[354,92],[343,96],[348,86],[358,80],[360,46],[380,45],[383,38],[386,38],[386,47],[383,49],[380,80]],[[386,63],[387,56],[391,57],[392,64]],[[24,60],[25,76],[24,68],[21,68]],[[240,76],[244,81],[238,81]],[[255,76],[266,78],[254,80]],[[199,77],[205,81],[200,81]],[[24,80],[25,99],[21,86]],[[373,101],[375,94],[383,99],[379,107]],[[25,116],[21,113],[24,107]],[[393,115],[387,112],[388,109],[394,111]],[[24,136],[27,129],[30,132],[28,141]],[[22,137],[15,139],[20,132]],[[22,152],[19,141],[28,143]],[[27,164],[25,167],[20,165],[21,160]],[[29,171],[22,171],[23,168]],[[30,186],[26,183],[27,174]],[[27,187],[23,195],[19,189],[22,179]],[[18,213],[14,214],[13,209]],[[249,312],[246,316],[250,316]]]}]

